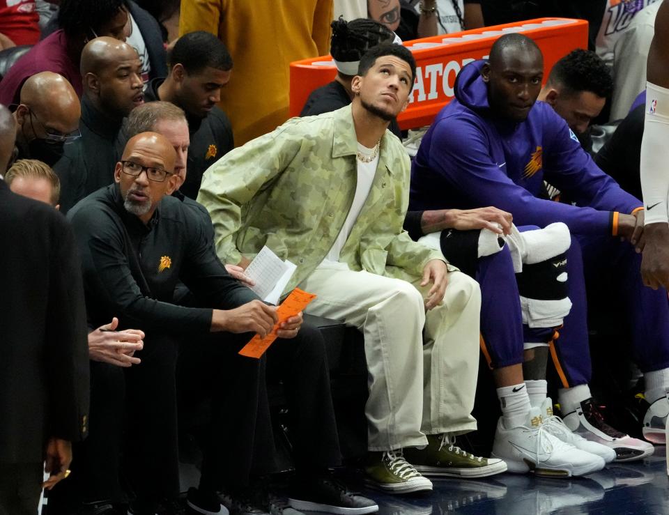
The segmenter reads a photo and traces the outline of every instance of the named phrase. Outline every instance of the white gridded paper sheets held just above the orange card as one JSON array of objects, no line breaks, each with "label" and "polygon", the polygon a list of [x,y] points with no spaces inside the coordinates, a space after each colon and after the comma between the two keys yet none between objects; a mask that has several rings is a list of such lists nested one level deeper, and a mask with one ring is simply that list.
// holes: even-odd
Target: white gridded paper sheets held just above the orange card
[{"label": "white gridded paper sheets held just above the orange card", "polygon": [[296,268],[298,267],[287,259],[282,261],[271,249],[263,247],[244,273],[256,283],[251,289],[261,299],[278,304],[279,297],[293,277]]}]

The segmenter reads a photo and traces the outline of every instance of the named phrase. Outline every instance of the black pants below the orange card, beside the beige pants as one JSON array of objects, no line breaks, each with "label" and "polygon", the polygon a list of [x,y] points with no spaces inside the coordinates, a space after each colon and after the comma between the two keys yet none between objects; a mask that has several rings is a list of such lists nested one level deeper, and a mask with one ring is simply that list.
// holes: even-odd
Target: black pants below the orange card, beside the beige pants
[{"label": "black pants below the orange card, beside the beige pants", "polygon": [[[233,343],[235,340],[242,343]],[[240,339],[229,335],[224,345],[237,353],[247,340],[248,335]],[[201,399],[203,393],[219,392],[219,397],[212,398],[210,404],[212,423],[204,446],[201,489],[237,489],[248,486],[253,476],[275,472],[265,378],[270,383],[280,380],[284,385],[295,467],[308,472],[341,463],[325,344],[318,329],[303,325],[297,337],[277,339],[263,360],[241,358],[221,369],[222,360],[213,357],[222,352],[226,349],[220,343],[210,341],[205,352],[186,348],[180,356],[180,406],[192,406],[194,399]],[[226,378],[231,367],[240,364],[248,367],[246,360],[259,364],[254,370],[263,379],[258,383],[254,416],[244,409],[249,402],[249,396],[244,395],[248,385],[240,384],[240,376],[249,372]],[[212,383],[224,387],[217,389]]]}]

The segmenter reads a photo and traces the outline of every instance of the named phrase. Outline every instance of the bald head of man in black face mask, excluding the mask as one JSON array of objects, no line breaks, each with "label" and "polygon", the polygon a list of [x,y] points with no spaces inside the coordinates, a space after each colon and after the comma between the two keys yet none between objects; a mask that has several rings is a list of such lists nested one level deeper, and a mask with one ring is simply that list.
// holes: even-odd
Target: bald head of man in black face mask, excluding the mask
[{"label": "bald head of man in black face mask, excluding the mask", "polygon": [[[79,98],[67,79],[57,73],[40,72],[29,77],[21,88],[22,106],[32,111],[49,132],[70,134],[79,128],[79,117],[82,116]],[[24,124],[27,114],[26,109],[17,109],[20,125]],[[40,134],[32,136],[29,139],[44,137]]]}]

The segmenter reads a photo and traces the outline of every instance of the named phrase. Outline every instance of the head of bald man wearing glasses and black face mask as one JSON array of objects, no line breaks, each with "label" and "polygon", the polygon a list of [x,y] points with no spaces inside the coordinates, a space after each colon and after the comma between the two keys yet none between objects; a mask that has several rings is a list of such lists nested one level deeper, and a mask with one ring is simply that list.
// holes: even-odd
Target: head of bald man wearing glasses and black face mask
[{"label": "head of bald man wearing glasses and black face mask", "polygon": [[37,159],[53,166],[63,155],[63,147],[80,137],[79,98],[57,73],[41,72],[27,79],[13,112],[20,159]]}]

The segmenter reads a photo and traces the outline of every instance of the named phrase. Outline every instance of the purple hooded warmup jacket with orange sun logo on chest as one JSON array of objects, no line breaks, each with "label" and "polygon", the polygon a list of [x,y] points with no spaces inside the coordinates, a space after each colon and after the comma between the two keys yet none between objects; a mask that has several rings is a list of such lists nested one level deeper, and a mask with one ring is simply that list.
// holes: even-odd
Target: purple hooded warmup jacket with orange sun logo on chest
[{"label": "purple hooded warmup jacket with orange sun logo on chest", "polygon": [[[518,226],[564,222],[572,233],[601,235],[613,230],[613,212],[643,205],[594,164],[550,105],[536,102],[522,123],[495,118],[480,73],[485,62],[463,68],[456,98],[423,137],[410,210],[495,206]],[[576,205],[537,198],[544,180]]]}]

